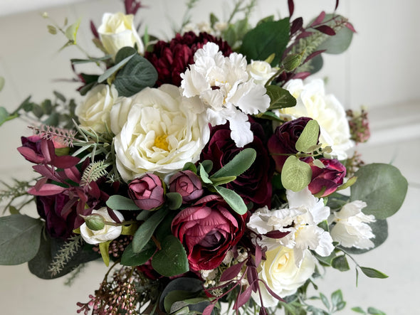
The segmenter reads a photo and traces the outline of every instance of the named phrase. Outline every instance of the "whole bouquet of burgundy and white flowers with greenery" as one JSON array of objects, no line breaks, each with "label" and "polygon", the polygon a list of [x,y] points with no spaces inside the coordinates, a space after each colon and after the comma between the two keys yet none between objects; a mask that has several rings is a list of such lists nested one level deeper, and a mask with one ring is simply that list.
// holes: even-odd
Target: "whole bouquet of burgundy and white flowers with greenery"
[{"label": "whole bouquet of burgundy and white flowers with greenery", "polygon": [[[384,242],[407,189],[394,166],[355,152],[366,112],[346,112],[312,78],[355,29],[335,11],[304,24],[292,0],[286,18],[251,26],[256,1],[238,0],[229,21],[195,25],[195,2],[162,41],[139,34],[142,5],[125,0],[125,14],[91,23],[103,54],[71,60],[83,102],[55,92],[0,108],[1,124],[31,119],[18,150],[36,172],[1,191],[11,215],[0,218],[0,263],[53,279],[102,259],[110,271],[77,304],[83,314],[340,311],[340,290],[329,301],[308,289],[349,258],[356,277],[387,277],[353,255]],[[48,31],[77,46],[79,23]],[[38,218],[20,213],[31,202]]]}]

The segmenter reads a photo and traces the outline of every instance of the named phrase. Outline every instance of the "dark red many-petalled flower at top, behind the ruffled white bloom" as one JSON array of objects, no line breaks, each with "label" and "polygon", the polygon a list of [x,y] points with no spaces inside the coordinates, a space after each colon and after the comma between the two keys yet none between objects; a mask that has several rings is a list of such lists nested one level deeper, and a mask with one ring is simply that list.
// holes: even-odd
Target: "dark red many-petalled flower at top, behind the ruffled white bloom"
[{"label": "dark red many-petalled flower at top, behind the ruffled white bloom", "polygon": [[194,63],[194,53],[208,43],[216,43],[225,56],[232,53],[226,41],[215,38],[208,33],[187,32],[184,35],[177,34],[169,43],[158,41],[153,51],[145,53],[145,58],[154,65],[158,73],[156,85],[164,83],[181,85],[181,73],[187,70],[188,65]]}]

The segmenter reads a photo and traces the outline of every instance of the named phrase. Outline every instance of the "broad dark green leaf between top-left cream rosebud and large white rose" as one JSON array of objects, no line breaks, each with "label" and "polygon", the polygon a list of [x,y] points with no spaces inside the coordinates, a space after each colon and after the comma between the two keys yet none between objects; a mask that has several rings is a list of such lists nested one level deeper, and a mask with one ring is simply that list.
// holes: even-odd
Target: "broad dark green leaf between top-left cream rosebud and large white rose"
[{"label": "broad dark green leaf between top-left cream rosebud and large white rose", "polygon": [[135,54],[115,76],[113,82],[118,96],[130,97],[145,87],[152,87],[157,80],[157,70],[141,55]]}]

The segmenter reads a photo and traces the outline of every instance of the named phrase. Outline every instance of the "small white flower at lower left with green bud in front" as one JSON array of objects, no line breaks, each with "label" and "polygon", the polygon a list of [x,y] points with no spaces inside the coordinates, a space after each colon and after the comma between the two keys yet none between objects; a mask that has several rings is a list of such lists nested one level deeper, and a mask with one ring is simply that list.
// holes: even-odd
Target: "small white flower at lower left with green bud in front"
[{"label": "small white flower at lower left with green bud in front", "polygon": [[[113,210],[115,215],[117,215],[117,218],[122,222],[124,220],[124,217],[122,214],[117,211]],[[110,215],[108,214],[107,207],[100,208],[98,210],[92,210],[92,214],[98,214],[103,217],[103,219],[107,222],[114,222]],[[114,226],[114,225],[107,225],[101,229],[101,230],[90,230],[88,228],[88,225],[86,223],[83,223],[83,225],[80,225],[80,235],[82,235],[83,240],[87,242],[88,244],[98,244],[100,242],[107,242],[108,240],[115,240],[118,236],[121,235],[122,226]]]}]

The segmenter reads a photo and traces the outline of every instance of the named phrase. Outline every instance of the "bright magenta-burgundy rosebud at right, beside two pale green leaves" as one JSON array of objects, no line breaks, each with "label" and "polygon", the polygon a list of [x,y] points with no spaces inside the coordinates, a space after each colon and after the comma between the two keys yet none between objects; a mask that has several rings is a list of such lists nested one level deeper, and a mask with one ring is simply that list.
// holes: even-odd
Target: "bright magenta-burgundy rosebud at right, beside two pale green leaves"
[{"label": "bright magenta-burgundy rosebud at right, beside two pale green leaves", "polygon": [[319,159],[325,166],[323,169],[315,166],[311,157],[303,159],[303,161],[308,163],[312,169],[312,179],[308,188],[314,195],[325,189],[321,197],[328,196],[342,185],[346,176],[346,168],[337,159]]}]

